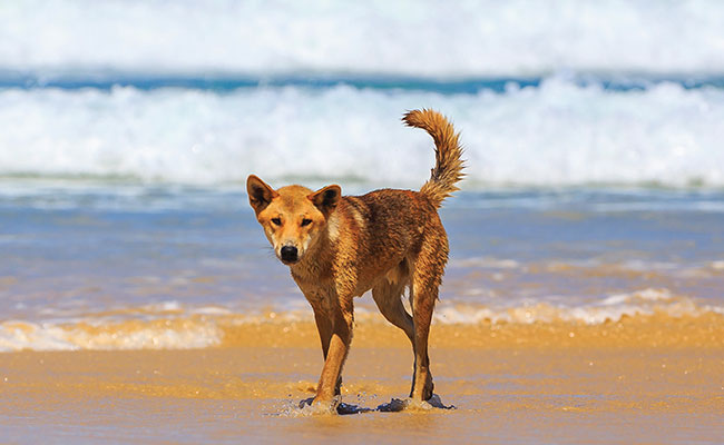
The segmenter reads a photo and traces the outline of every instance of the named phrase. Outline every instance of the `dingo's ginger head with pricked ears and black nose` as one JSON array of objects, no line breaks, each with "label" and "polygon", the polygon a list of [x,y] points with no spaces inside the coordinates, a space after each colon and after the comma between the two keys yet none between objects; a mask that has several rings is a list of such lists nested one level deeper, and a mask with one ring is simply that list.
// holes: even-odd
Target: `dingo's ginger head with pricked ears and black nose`
[{"label": "dingo's ginger head with pricked ears and black nose", "polygon": [[342,194],[336,185],[317,191],[302,186],[274,190],[254,175],[246,179],[246,191],[274,254],[290,266],[319,240]]}]

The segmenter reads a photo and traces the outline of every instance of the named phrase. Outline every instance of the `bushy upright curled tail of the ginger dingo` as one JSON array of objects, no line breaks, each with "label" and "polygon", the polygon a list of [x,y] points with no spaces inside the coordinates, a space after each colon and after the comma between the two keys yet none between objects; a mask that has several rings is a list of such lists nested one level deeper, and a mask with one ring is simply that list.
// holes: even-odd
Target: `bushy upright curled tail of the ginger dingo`
[{"label": "bushy upright curled tail of the ginger dingo", "polygon": [[444,198],[459,190],[456,184],[464,176],[460,135],[456,134],[452,123],[444,116],[434,110],[409,111],[402,121],[410,127],[422,128],[434,140],[434,168],[420,192],[427,195],[436,207],[440,207]]}]

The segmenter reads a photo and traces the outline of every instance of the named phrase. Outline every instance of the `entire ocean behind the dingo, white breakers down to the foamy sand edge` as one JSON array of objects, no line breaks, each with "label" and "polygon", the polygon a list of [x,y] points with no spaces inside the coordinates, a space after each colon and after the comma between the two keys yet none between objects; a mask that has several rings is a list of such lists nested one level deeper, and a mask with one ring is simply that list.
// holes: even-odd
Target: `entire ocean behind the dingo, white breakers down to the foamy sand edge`
[{"label": "entire ocean behind the dingo, white breakers down to the foamy sand edge", "polygon": [[[422,107],[453,120],[468,159],[441,210],[436,323],[724,314],[723,14],[3,4],[0,350],[209,347],[310,319],[246,176],[418,188],[432,141],[400,117]],[[358,301],[360,323],[372,312]]]}]

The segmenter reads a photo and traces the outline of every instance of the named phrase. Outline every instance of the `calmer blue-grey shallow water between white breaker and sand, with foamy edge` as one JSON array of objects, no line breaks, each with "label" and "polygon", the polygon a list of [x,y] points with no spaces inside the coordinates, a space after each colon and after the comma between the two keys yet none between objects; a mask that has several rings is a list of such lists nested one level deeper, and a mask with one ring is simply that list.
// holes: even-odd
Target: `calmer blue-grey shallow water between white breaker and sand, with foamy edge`
[{"label": "calmer blue-grey shallow water between white breaker and sand, with foamy edge", "polygon": [[[0,201],[4,350],[205,347],[229,326],[311,317],[238,188],[13,181]],[[723,198],[463,191],[441,211],[451,258],[437,323],[722,314]]]}]

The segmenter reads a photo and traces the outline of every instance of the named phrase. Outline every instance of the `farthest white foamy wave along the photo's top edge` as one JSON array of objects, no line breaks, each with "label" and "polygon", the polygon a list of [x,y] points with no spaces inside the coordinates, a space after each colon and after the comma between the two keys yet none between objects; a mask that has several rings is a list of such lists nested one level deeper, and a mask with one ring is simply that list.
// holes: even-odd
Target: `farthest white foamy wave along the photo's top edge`
[{"label": "farthest white foamy wave along the photo's top edge", "polygon": [[3,2],[0,68],[722,72],[716,0]]}]

